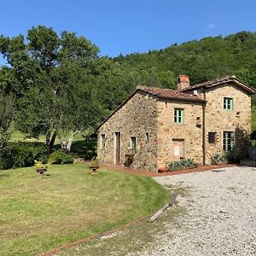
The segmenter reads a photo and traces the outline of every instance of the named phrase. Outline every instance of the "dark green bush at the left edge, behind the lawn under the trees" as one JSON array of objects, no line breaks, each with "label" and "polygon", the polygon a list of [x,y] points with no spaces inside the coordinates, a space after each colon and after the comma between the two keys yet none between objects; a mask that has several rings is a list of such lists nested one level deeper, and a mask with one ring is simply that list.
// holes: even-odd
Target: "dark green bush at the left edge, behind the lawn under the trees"
[{"label": "dark green bush at the left edge, behind the lawn under the trees", "polygon": [[9,143],[0,152],[0,169],[33,166],[34,160],[48,160],[47,149],[42,143]]}]

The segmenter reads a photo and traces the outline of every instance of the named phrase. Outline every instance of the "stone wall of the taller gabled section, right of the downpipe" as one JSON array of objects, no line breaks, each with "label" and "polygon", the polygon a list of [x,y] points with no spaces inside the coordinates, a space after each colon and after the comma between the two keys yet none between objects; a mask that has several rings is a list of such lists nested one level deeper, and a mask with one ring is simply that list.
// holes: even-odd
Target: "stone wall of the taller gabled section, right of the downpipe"
[{"label": "stone wall of the taller gabled section, right of the downpipe", "polygon": [[[202,96],[202,93],[201,93]],[[233,110],[224,109],[224,97],[233,98]],[[206,164],[210,155],[223,152],[224,131],[251,131],[251,97],[236,84],[220,84],[206,90]],[[217,132],[217,143],[208,143],[208,132]]]}]

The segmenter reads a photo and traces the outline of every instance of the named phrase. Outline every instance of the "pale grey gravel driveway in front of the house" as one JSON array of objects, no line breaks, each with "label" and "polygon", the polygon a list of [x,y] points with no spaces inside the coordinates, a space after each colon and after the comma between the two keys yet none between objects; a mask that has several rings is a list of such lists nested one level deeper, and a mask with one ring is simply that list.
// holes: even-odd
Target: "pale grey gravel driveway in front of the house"
[{"label": "pale grey gravel driveway in front of the house", "polygon": [[171,177],[163,185],[189,187],[179,197],[187,214],[181,227],[166,224],[163,236],[130,255],[256,255],[256,168],[230,167]]}]

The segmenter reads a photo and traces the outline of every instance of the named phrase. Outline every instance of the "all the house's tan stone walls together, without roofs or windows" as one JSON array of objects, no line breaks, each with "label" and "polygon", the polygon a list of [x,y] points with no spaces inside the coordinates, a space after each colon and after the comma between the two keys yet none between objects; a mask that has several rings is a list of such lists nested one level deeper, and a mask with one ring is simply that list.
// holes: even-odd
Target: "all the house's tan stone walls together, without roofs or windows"
[{"label": "all the house's tan stone walls together, without roofs or windows", "polygon": [[[198,96],[204,97],[198,90]],[[251,131],[251,98],[236,84],[220,84],[206,90],[205,143],[206,164],[211,155],[223,153],[224,131]],[[233,109],[224,109],[224,97],[233,98]],[[193,158],[203,163],[203,103],[160,100],[137,90],[98,131],[98,159],[116,163],[115,133],[120,132],[120,164],[132,155],[132,168],[156,172],[166,162]],[[183,108],[183,124],[174,122],[174,109]],[[208,143],[208,132],[216,132],[216,143]],[[149,135],[147,141],[146,133]],[[101,148],[101,136],[106,136],[106,148]],[[131,149],[131,137],[136,137],[137,148]]]}]

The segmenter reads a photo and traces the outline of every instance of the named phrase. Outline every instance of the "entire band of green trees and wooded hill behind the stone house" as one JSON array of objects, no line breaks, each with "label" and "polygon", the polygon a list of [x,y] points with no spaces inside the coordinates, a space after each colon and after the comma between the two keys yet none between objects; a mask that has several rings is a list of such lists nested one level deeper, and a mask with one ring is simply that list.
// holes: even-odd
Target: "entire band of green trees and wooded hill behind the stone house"
[{"label": "entire band of green trees and wooded hill behind the stone house", "polygon": [[[15,127],[27,137],[44,135],[49,153],[55,137],[69,147],[131,94],[137,84],[176,88],[177,75],[192,84],[235,74],[256,87],[256,33],[203,38],[148,53],[100,56],[100,49],[74,32],[45,26],[27,35],[0,36],[0,148]],[[67,148],[68,149],[68,148]]]}]

